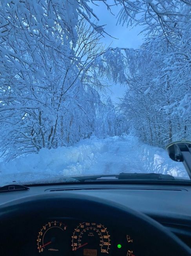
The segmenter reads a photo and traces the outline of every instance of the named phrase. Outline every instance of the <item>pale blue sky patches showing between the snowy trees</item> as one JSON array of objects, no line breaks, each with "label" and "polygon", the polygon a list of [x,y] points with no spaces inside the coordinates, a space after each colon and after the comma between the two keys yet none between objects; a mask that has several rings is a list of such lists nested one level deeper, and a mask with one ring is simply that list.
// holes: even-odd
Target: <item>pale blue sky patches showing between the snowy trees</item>
[{"label": "pale blue sky patches showing between the snowy trees", "polygon": [[[113,4],[113,0],[107,0],[107,4]],[[112,12],[115,14],[112,15],[108,10],[105,4],[101,1],[96,1],[96,4],[99,6],[95,6],[91,4],[91,7],[94,10],[94,13],[100,19],[98,24],[105,25],[105,31],[113,37],[118,39],[111,38],[107,35],[102,39],[104,45],[111,46],[111,47],[120,47],[120,48],[138,48],[142,45],[144,40],[144,35],[139,34],[141,32],[141,27],[137,26],[134,28],[127,28],[126,25],[122,26],[117,24],[116,15],[120,11],[121,7],[113,6],[111,8]],[[122,97],[126,88],[120,85],[112,85],[110,87],[112,92],[108,94],[111,96],[113,102],[118,102],[118,98]]]}]

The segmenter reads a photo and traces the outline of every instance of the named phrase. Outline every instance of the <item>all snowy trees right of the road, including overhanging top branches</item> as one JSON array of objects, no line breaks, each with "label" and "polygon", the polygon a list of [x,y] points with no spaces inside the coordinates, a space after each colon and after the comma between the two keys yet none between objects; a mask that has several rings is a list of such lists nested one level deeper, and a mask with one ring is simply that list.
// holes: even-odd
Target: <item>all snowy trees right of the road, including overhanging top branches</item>
[{"label": "all snowy trees right of the road, including overhanging top branches", "polygon": [[122,111],[151,145],[191,139],[191,1],[130,2],[137,4],[128,1],[120,19],[143,25],[146,42],[137,50],[124,49],[128,86]]}]

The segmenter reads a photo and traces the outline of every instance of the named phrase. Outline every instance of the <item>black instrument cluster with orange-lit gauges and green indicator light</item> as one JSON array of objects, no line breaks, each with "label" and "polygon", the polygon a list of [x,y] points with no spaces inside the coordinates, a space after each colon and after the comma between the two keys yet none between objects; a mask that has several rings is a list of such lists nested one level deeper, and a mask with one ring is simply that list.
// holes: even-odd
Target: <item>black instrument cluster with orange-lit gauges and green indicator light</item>
[{"label": "black instrument cluster with orange-lit gauges and green indicator light", "polygon": [[32,240],[35,255],[39,256],[136,256],[134,238],[115,223],[108,227],[103,223],[48,219]]}]

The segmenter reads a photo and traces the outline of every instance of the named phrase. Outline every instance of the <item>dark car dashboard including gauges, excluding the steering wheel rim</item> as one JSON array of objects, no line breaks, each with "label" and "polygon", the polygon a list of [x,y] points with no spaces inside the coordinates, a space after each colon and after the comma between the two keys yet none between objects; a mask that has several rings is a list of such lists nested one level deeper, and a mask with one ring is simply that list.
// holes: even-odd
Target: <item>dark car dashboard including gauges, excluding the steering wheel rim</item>
[{"label": "dark car dashboard including gauges, excluding the steering wheel rim", "polygon": [[[66,184],[31,186],[27,191],[0,193],[0,204],[33,195],[70,192],[117,202],[145,213],[191,247],[191,187],[135,184]],[[67,206],[66,206],[67,207]],[[84,208],[86,206],[84,205]],[[102,209],[100,209],[102,211]],[[103,212],[104,215],[107,213]],[[99,256],[141,255],[136,246],[138,230],[124,230],[115,219],[111,223],[75,218],[58,213],[1,221],[1,255],[15,256]],[[107,216],[105,216],[107,217]],[[116,216],[116,219],[118,216]],[[127,219],[128,222],[128,219]],[[8,237],[8,239],[7,239]]]}]

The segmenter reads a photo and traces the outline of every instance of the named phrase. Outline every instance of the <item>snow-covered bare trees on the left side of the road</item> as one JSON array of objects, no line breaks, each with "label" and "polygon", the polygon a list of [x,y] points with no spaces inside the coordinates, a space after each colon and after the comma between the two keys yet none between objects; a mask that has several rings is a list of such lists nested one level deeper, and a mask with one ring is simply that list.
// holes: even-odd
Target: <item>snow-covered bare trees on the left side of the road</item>
[{"label": "snow-covered bare trees on the left side of the road", "polygon": [[[106,52],[88,18],[93,11],[85,1],[58,0],[2,1],[0,8],[0,151],[10,160],[90,137]],[[112,127],[104,134],[113,135]]]}]

